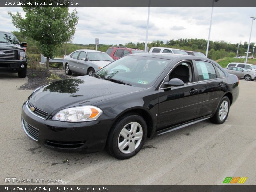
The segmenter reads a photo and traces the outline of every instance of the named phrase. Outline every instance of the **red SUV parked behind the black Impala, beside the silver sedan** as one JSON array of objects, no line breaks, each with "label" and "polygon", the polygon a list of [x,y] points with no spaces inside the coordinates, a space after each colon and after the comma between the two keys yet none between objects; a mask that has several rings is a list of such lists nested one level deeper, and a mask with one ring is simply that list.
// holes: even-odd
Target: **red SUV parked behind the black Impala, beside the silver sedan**
[{"label": "red SUV parked behind the black Impala, beside the silver sedan", "polygon": [[145,52],[143,50],[137,49],[137,48],[127,48],[127,47],[118,47],[118,46],[113,46],[109,47],[106,53],[112,57],[114,60],[123,57],[125,55],[129,55],[132,53],[142,53]]}]

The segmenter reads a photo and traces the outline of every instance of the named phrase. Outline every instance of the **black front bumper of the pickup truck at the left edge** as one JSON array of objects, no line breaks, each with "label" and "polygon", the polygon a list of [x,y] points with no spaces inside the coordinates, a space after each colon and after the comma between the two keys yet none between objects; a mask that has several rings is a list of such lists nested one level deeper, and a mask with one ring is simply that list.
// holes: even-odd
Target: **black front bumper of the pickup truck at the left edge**
[{"label": "black front bumper of the pickup truck at the left edge", "polygon": [[[21,67],[24,65],[24,68]],[[24,60],[0,60],[1,72],[18,72],[27,68],[27,61]]]}]

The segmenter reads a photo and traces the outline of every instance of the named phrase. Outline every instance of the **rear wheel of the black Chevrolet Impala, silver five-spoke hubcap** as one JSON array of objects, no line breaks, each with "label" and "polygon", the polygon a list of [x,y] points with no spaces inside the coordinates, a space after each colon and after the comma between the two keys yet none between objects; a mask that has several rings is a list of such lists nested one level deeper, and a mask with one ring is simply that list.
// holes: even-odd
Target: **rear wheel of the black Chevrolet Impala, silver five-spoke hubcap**
[{"label": "rear wheel of the black Chevrolet Impala, silver five-spoke hubcap", "polygon": [[225,96],[220,100],[220,104],[214,116],[210,118],[210,121],[215,124],[224,123],[228,118],[229,108],[230,108],[230,101],[228,97]]}]

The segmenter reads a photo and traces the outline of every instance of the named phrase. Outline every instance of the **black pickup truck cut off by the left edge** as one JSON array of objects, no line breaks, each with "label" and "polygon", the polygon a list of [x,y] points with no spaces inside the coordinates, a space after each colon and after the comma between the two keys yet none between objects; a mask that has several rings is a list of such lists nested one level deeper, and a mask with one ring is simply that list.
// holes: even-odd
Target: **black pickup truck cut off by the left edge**
[{"label": "black pickup truck cut off by the left edge", "polygon": [[0,31],[0,73],[18,73],[18,77],[27,75],[27,58],[24,47],[10,32]]}]

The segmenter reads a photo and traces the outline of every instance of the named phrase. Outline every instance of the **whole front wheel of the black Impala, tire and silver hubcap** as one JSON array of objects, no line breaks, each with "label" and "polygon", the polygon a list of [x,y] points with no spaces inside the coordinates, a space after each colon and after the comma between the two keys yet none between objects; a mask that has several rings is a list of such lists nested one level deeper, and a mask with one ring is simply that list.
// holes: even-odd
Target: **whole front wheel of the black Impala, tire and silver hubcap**
[{"label": "whole front wheel of the black Impala, tire and silver hubcap", "polygon": [[120,118],[113,126],[107,142],[110,155],[118,159],[135,156],[145,143],[147,124],[137,115],[130,114]]}]

